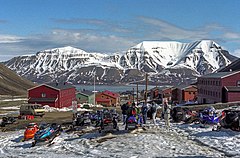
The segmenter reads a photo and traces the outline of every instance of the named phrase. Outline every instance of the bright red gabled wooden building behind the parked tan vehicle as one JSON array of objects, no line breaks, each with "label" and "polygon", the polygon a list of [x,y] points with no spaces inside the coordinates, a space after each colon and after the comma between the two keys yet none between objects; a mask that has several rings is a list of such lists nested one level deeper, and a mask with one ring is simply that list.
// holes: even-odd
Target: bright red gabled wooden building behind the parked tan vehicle
[{"label": "bright red gabled wooden building behind the parked tan vehicle", "polygon": [[62,108],[72,105],[76,100],[76,89],[70,84],[41,84],[28,89],[28,103]]}]

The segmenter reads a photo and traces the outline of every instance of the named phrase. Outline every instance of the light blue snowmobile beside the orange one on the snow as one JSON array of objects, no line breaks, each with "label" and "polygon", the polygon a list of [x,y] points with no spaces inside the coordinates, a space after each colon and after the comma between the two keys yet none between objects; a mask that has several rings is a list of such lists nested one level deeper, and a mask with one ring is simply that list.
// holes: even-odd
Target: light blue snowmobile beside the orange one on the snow
[{"label": "light blue snowmobile beside the orange one on the snow", "polygon": [[41,125],[40,129],[34,135],[32,147],[35,145],[51,144],[51,142],[61,133],[61,125],[53,123],[51,125]]}]

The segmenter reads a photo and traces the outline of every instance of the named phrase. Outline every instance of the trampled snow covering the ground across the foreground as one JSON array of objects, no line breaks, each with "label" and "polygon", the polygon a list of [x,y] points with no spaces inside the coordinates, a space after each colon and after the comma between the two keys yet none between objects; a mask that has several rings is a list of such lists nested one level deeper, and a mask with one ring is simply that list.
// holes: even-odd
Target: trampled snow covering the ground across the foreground
[{"label": "trampled snow covering the ground across the foreground", "polygon": [[23,130],[0,132],[0,157],[240,157],[239,132],[181,123],[167,130],[158,123],[149,122],[146,130],[136,133],[122,125],[119,132],[107,135],[63,132],[51,146],[35,147],[31,140],[21,142]]}]

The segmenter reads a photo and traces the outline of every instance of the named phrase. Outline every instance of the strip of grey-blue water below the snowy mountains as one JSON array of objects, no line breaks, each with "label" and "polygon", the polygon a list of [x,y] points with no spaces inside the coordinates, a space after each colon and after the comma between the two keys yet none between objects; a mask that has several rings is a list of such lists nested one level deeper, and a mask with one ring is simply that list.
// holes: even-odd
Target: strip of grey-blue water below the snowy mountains
[{"label": "strip of grey-blue water below the snowy mountains", "polygon": [[[94,90],[94,86],[93,85],[74,85],[76,87],[76,89],[78,91],[82,91],[83,89],[89,90],[89,91],[93,91]],[[148,90],[152,89],[156,86],[151,86],[148,85]],[[95,85],[95,90],[102,92],[105,90],[109,90],[112,92],[125,92],[125,91],[136,91],[137,89],[137,85]],[[145,90],[145,85],[138,85],[138,91],[142,91]]]}]

